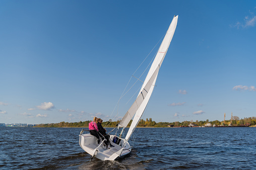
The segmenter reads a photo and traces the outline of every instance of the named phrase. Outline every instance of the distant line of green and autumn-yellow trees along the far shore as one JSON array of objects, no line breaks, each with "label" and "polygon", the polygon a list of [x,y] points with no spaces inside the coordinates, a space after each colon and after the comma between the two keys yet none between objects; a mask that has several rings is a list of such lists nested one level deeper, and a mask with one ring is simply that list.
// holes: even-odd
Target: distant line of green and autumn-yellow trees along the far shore
[{"label": "distant line of green and autumn-yellow trees along the far shore", "polygon": [[[69,122],[59,122],[59,123],[47,123],[47,124],[38,124],[36,125],[37,127],[88,127],[89,123],[91,121],[87,120],[87,121],[80,121],[80,122],[74,122],[74,123],[69,123]],[[102,122],[102,126],[103,127],[116,127],[116,125],[120,122],[120,120],[118,121],[112,121],[111,119],[106,121],[106,122]],[[155,121],[152,121],[152,118],[147,118],[146,120],[141,119],[137,125],[137,127],[168,127],[169,126],[175,126],[175,127],[179,127],[179,126],[188,126],[190,123],[194,123],[198,126],[203,126],[207,123],[211,123],[212,125],[215,124],[217,125],[224,125],[227,126],[229,123],[231,123],[232,125],[244,125],[246,123],[250,123],[251,125],[256,125],[256,117],[249,117],[249,118],[243,118],[243,119],[239,119],[239,117],[237,116],[233,116],[232,117],[232,121],[230,120],[225,120],[225,124],[224,122],[220,122],[218,120],[215,121],[209,121],[208,119],[206,121],[198,121],[196,120],[195,122],[193,120],[190,121],[183,121],[183,122],[158,122],[156,123]],[[132,120],[129,122],[129,124],[127,125],[127,127],[130,127],[132,124]]]}]

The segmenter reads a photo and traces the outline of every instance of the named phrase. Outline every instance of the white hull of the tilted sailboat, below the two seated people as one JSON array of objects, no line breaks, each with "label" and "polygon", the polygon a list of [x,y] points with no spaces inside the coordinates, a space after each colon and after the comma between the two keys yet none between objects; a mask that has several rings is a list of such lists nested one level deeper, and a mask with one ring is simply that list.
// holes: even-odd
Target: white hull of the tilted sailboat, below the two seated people
[{"label": "white hull of the tilted sailboat, below the two seated people", "polygon": [[103,145],[103,141],[98,144],[97,138],[90,133],[79,135],[79,144],[84,151],[101,160],[115,160],[131,152],[132,147],[125,139],[122,139],[117,145],[112,142],[113,138],[114,135],[110,135],[109,141],[114,145],[110,149]]}]

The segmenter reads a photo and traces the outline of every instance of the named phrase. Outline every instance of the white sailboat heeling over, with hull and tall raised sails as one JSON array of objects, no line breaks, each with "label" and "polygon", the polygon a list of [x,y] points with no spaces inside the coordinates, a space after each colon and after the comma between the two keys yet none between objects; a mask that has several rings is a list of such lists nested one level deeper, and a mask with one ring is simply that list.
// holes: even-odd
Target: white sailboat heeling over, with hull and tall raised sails
[{"label": "white sailboat heeling over, with hull and tall raised sails", "polygon": [[[87,153],[92,155],[92,158],[95,156],[96,158],[101,160],[115,160],[131,152],[132,146],[129,144],[129,139],[132,133],[134,132],[136,126],[138,125],[144,113],[144,110],[147,107],[149,99],[152,95],[159,69],[162,65],[166,52],[171,43],[173,34],[177,26],[177,21],[178,16],[174,16],[165,34],[165,37],[158,49],[155,59],[146,76],[146,79],[144,80],[144,83],[138,94],[137,99],[130,107],[130,109],[126,112],[126,114],[123,116],[121,121],[118,123],[118,128],[122,128],[120,135],[110,135],[109,141],[114,147],[106,148],[104,146],[104,140],[106,139],[104,139],[98,144],[97,138],[95,136],[91,135],[90,133],[84,134],[84,129],[82,129],[79,135],[79,144]],[[129,124],[129,122],[132,119],[132,124],[127,134],[125,135],[125,138],[122,138],[122,134],[124,132],[125,127]]]}]

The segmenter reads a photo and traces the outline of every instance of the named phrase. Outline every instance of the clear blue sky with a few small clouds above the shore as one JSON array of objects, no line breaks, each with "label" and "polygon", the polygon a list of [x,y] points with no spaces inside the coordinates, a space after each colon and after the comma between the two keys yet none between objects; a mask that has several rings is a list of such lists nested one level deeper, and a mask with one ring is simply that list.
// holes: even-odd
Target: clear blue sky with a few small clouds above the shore
[{"label": "clear blue sky with a few small clouds above the shore", "polygon": [[1,1],[0,123],[121,118],[174,15],[143,118],[256,116],[255,1]]}]

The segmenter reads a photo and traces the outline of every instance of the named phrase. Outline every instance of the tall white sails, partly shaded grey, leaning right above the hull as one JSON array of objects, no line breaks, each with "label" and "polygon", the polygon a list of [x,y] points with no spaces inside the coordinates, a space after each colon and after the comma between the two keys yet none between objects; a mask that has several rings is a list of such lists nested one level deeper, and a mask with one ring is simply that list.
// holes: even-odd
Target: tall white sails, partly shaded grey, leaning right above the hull
[{"label": "tall white sails, partly shaded grey, leaning right above the hull", "polygon": [[161,67],[161,64],[171,43],[173,34],[175,32],[177,21],[178,16],[174,16],[166,32],[166,35],[162,41],[162,44],[160,45],[157,55],[150,67],[148,75],[142,85],[142,88],[140,90],[140,93],[138,94],[137,99],[135,100],[131,108],[126,112],[122,120],[119,122],[119,125],[125,128],[130,122],[130,120],[134,117],[130,129],[126,134],[126,140],[129,140],[129,138],[131,137],[133,131],[135,130],[137,124],[139,123],[143,115],[145,108],[147,107],[147,104],[155,87],[158,71]]}]

